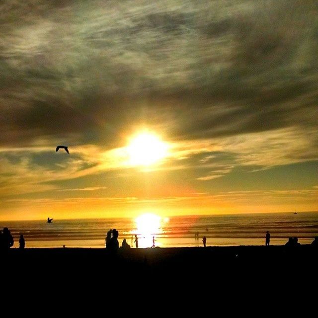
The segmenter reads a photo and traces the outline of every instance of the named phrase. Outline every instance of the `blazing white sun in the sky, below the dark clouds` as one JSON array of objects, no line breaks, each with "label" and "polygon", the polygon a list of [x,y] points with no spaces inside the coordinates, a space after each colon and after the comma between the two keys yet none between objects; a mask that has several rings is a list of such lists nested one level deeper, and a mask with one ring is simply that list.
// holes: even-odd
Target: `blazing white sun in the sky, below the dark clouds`
[{"label": "blazing white sun in the sky, below the dark clouds", "polygon": [[126,149],[129,164],[133,166],[149,166],[158,163],[168,154],[168,144],[150,132],[135,135]]}]

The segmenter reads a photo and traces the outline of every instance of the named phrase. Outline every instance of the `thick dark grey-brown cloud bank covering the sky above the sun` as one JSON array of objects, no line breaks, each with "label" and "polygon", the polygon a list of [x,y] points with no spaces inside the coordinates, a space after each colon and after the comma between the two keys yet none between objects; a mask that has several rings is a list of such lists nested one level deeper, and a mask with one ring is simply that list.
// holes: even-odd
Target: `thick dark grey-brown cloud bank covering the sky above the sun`
[{"label": "thick dark grey-brown cloud bank covering the sky above the sun", "polygon": [[317,128],[316,1],[1,1],[0,144]]}]

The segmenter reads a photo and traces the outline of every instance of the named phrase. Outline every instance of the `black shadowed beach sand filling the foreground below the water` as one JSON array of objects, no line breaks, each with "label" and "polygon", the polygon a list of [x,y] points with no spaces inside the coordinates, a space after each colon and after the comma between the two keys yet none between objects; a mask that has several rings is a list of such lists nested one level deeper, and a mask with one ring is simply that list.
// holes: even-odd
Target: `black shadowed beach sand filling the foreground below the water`
[{"label": "black shadowed beach sand filling the foreground below the water", "polygon": [[13,300],[13,309],[24,300],[44,317],[53,308],[72,316],[83,308],[90,316],[149,308],[153,315],[259,316],[303,304],[303,312],[315,304],[309,300],[318,286],[318,248],[311,245],[132,248],[116,256],[100,248],[11,248],[0,256],[2,303]]}]

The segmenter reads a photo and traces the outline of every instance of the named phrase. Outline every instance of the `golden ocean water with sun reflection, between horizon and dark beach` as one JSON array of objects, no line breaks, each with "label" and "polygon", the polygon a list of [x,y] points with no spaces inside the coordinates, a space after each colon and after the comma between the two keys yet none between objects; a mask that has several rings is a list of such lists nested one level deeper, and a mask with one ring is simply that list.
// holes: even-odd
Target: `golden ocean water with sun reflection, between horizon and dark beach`
[{"label": "golden ocean water with sun reflection, between horizon and dark beach", "polygon": [[[24,235],[26,247],[105,247],[110,229],[119,231],[119,244],[126,239],[135,247],[193,247],[264,245],[265,234],[271,234],[271,245],[283,245],[289,237],[309,244],[318,236],[318,212],[236,214],[211,216],[175,216],[159,218],[146,215],[137,220],[125,218],[40,221],[0,221],[0,229],[9,228],[19,246]],[[153,241],[155,239],[155,241]]]}]

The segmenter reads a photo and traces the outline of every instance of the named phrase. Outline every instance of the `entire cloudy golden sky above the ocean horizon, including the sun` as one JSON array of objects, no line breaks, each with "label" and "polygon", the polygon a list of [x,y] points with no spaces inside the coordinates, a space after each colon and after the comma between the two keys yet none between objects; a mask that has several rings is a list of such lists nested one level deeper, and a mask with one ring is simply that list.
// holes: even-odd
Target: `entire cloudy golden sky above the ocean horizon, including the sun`
[{"label": "entire cloudy golden sky above the ocean horizon, including the sun", "polygon": [[316,0],[1,1],[0,220],[318,211],[317,52]]}]

